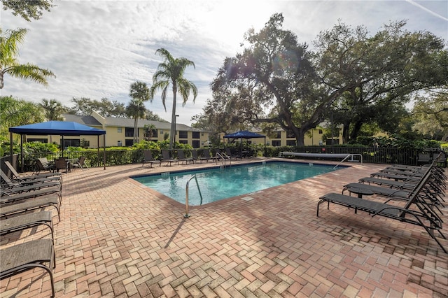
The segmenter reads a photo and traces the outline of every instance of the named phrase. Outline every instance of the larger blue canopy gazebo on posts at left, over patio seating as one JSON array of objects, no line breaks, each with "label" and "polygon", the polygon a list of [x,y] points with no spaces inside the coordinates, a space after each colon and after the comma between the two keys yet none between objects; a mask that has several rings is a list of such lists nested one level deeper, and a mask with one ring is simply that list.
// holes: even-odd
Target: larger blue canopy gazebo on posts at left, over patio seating
[{"label": "larger blue canopy gazebo on posts at left, over patio seating", "polygon": [[[87,125],[82,125],[78,122],[66,121],[48,121],[41,123],[34,123],[31,125],[21,125],[10,127],[10,158],[13,158],[13,134],[20,134],[20,153],[23,166],[23,138],[27,135],[59,135],[62,136],[62,152],[64,152],[64,136],[98,136],[98,155],[99,155],[99,136],[103,135],[104,140],[104,169],[106,169],[106,131],[97,129]],[[11,160],[11,162],[13,162]]]}]

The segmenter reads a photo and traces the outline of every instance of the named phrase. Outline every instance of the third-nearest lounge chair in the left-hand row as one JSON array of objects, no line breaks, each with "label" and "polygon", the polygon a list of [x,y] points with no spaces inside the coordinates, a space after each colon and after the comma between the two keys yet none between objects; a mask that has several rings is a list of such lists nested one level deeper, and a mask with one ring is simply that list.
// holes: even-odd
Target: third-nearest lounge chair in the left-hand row
[{"label": "third-nearest lounge chair in the left-hand row", "polygon": [[0,204],[0,218],[7,218],[10,215],[25,213],[45,207],[54,207],[57,210],[57,217],[61,221],[61,212],[59,210],[59,201],[57,198],[44,196],[22,199],[12,203]]}]

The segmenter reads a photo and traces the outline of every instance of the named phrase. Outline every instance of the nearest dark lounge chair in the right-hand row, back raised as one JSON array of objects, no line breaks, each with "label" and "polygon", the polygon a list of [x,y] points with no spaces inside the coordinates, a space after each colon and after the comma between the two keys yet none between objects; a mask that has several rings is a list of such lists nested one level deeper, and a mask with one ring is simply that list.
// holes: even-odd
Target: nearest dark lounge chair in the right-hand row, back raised
[{"label": "nearest dark lounge chair in the right-hand row, back raised", "polygon": [[[405,206],[395,206],[387,204],[389,201],[394,201],[395,199],[402,200],[402,198],[391,197],[386,202],[382,203],[379,201],[371,201],[367,199],[360,199],[358,197],[350,197],[344,194],[329,193],[320,197],[317,203],[317,216],[319,216],[319,206],[325,201],[328,203],[327,208],[330,209],[330,203],[346,206],[348,208],[354,208],[355,213],[358,210],[365,211],[374,216],[383,216],[385,218],[391,218],[393,220],[398,220],[400,222],[406,222],[412,225],[418,225],[423,227],[423,229],[428,232],[428,234],[437,242],[437,244],[442,248],[444,253],[448,251],[442,246],[442,243],[435,237],[434,230],[439,232],[443,239],[447,239],[440,229],[442,229],[442,221],[440,217],[435,215],[433,211],[427,208],[425,204],[419,201],[419,190],[412,192],[411,196],[407,200]],[[415,207],[412,208],[411,207]],[[429,222],[426,225],[425,222]]]}]

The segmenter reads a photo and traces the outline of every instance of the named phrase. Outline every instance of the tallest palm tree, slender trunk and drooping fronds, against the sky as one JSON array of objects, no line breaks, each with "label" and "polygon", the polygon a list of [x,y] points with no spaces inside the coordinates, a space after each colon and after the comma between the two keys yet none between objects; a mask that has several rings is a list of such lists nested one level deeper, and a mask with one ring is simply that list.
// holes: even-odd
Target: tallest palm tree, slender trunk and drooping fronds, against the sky
[{"label": "tallest palm tree, slender trunk and drooping fronds, against the sky", "polygon": [[185,106],[190,92],[193,92],[193,102],[197,97],[197,87],[195,84],[183,78],[183,73],[187,66],[195,67],[195,63],[187,58],[174,58],[167,50],[160,48],[155,51],[163,57],[164,61],[158,65],[158,70],[153,75],[153,86],[151,87],[151,101],[155,91],[162,90],[162,104],[167,111],[165,101],[167,100],[167,90],[172,85],[173,90],[173,110],[171,116],[171,129],[169,131],[169,149],[174,145],[174,134],[176,134],[176,94],[179,91],[183,98],[182,106]]}]

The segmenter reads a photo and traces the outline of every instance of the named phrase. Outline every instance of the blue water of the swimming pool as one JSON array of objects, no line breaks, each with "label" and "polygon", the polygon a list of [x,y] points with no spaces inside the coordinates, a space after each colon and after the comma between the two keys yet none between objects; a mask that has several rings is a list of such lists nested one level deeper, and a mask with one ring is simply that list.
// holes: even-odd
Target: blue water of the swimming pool
[{"label": "blue water of the swimming pool", "polygon": [[[269,187],[317,176],[330,171],[335,171],[333,166],[322,164],[265,162],[228,166],[223,169],[215,167],[214,169],[201,169],[198,171],[158,173],[133,178],[139,181],[139,183],[185,204],[187,181],[193,175],[196,175],[202,193],[203,205],[240,194],[265,190]],[[200,205],[200,194],[194,178],[190,181],[188,201],[191,206]]]}]

